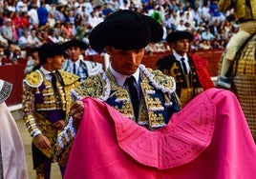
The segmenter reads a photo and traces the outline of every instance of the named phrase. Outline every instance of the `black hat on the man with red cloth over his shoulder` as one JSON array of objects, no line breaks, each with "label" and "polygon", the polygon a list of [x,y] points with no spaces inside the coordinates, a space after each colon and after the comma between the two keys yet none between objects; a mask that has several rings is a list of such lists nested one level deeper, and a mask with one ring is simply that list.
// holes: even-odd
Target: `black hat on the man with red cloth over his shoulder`
[{"label": "black hat on the man with red cloth over his shoulder", "polygon": [[166,37],[166,41],[168,43],[176,42],[178,40],[183,40],[183,39],[188,39],[190,42],[192,42],[193,40],[192,33],[188,31],[176,30],[176,31],[170,32]]}]

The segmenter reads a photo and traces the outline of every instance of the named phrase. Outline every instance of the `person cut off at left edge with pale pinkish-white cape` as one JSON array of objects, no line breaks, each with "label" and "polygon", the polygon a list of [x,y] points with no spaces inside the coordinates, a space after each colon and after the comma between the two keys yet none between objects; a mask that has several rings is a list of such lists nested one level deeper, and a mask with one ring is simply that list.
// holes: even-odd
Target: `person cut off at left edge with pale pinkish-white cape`
[{"label": "person cut off at left edge with pale pinkish-white cape", "polygon": [[5,103],[11,89],[11,83],[0,79],[0,178],[26,179],[29,177],[21,135]]}]

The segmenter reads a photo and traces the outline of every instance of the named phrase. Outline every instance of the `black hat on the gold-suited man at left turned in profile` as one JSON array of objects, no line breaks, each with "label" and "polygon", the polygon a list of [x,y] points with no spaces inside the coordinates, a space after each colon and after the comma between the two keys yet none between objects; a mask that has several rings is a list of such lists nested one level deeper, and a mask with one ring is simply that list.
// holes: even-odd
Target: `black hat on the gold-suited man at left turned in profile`
[{"label": "black hat on the gold-suited man at left turned in profile", "polygon": [[39,61],[43,65],[46,63],[47,58],[49,57],[54,57],[57,55],[65,55],[65,49],[61,44],[45,43],[39,48],[38,55],[39,55]]}]

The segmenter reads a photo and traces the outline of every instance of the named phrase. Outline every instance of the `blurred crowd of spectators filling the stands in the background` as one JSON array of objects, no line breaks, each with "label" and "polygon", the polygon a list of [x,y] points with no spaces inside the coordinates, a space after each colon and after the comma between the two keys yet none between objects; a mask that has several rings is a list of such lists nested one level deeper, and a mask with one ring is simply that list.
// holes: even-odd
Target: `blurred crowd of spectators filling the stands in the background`
[{"label": "blurred crowd of spectators filling the stands in the background", "polygon": [[[169,50],[163,44],[172,30],[193,33],[194,51],[224,50],[239,29],[233,11],[220,12],[217,0],[0,0],[0,65],[17,63],[45,42],[77,38],[88,43],[90,31],[115,10],[136,10],[161,23],[163,43],[151,44],[147,53]],[[96,51],[89,48],[85,54]]]}]

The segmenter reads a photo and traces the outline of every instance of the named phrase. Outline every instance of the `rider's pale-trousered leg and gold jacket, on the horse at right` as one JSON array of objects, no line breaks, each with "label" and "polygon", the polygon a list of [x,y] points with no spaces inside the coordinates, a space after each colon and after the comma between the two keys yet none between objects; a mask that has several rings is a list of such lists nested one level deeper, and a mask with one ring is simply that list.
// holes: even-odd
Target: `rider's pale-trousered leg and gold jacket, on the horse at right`
[{"label": "rider's pale-trousered leg and gold jacket, on the horse at right", "polygon": [[245,44],[245,41],[256,32],[256,1],[255,0],[220,0],[219,10],[226,12],[234,9],[236,19],[239,22],[239,31],[234,34],[226,46],[222,64],[221,75],[217,84],[221,87],[230,88],[227,80],[227,72],[234,60],[237,51]]}]

